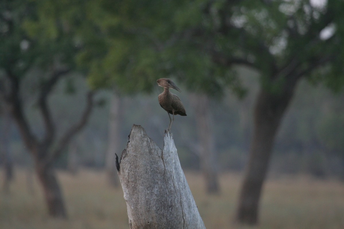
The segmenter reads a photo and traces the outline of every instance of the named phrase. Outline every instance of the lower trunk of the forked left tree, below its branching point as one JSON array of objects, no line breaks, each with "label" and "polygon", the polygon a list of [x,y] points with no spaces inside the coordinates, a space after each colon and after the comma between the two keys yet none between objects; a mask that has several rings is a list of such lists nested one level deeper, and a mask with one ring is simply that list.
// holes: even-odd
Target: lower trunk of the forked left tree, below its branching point
[{"label": "lower trunk of the forked left tree, below its branching point", "polygon": [[[42,160],[42,159],[41,159]],[[56,218],[67,218],[63,195],[57,182],[56,173],[52,165],[45,161],[36,161],[36,173],[42,184],[49,215]]]}]

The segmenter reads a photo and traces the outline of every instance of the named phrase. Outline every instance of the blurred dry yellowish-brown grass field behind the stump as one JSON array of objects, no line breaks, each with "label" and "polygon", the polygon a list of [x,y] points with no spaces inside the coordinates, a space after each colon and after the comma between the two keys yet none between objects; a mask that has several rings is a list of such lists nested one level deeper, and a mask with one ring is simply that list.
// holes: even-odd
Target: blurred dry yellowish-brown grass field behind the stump
[{"label": "blurred dry yellowish-brown grass field behind the stump", "polygon": [[[3,174],[1,173],[1,178]],[[128,229],[121,188],[107,185],[104,172],[59,172],[68,210],[67,220],[48,217],[40,186],[29,192],[23,170],[17,170],[10,193],[0,192],[1,229]],[[343,229],[344,183],[307,176],[269,179],[264,187],[257,227],[233,225],[241,176],[222,174],[222,193],[208,196],[200,174],[186,173],[207,229]],[[3,180],[0,180],[3,183]]]}]

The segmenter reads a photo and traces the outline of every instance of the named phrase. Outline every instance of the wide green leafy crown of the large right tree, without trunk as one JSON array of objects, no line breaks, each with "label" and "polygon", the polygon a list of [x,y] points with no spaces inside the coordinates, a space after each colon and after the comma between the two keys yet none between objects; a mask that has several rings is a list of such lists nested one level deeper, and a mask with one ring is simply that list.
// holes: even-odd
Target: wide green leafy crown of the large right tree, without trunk
[{"label": "wide green leafy crown of the large right tree, without trunk", "polygon": [[[107,51],[91,71],[91,83],[130,93],[150,91],[155,79],[173,77],[189,90],[221,96],[231,87],[243,95],[230,70],[240,63],[255,68],[262,85],[274,93],[298,74],[341,90],[344,45],[338,4],[100,1],[106,16],[89,14],[96,15],[93,21],[106,37]],[[335,26],[334,34],[321,39],[329,25]],[[311,77],[323,69],[325,76]]]}]

